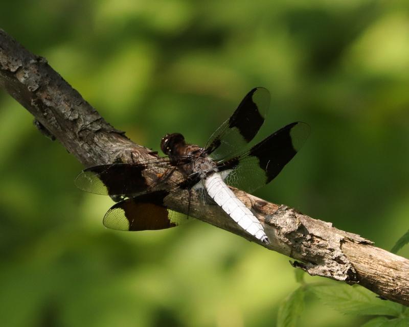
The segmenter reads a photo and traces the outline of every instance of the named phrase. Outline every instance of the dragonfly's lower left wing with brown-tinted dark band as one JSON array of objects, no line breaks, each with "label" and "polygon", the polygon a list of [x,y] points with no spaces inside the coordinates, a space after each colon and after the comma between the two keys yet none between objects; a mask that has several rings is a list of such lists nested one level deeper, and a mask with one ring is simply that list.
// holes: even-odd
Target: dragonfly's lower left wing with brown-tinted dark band
[{"label": "dragonfly's lower left wing with brown-tinted dark band", "polygon": [[117,230],[155,230],[175,227],[187,221],[185,214],[164,204],[169,191],[155,191],[123,200],[105,214],[105,227]]}]

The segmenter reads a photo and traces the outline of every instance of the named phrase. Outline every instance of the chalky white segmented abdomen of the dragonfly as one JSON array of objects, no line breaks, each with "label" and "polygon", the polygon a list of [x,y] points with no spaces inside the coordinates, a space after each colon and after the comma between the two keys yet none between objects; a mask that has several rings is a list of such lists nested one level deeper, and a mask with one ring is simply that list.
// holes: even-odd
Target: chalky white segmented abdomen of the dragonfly
[{"label": "chalky white segmented abdomen of the dragonfly", "polygon": [[211,174],[203,180],[203,184],[209,196],[221,206],[240,227],[262,242],[269,243],[259,220],[224,183],[220,173]]}]

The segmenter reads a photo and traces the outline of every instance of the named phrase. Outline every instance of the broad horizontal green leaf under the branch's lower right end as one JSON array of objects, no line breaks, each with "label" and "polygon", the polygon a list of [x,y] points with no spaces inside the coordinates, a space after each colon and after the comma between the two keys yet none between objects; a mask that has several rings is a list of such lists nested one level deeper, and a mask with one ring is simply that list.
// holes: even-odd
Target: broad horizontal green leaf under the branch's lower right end
[{"label": "broad horizontal green leaf under the branch's lower right end", "polygon": [[399,317],[405,308],[398,303],[381,300],[360,286],[311,285],[309,289],[326,305],[344,314]]}]

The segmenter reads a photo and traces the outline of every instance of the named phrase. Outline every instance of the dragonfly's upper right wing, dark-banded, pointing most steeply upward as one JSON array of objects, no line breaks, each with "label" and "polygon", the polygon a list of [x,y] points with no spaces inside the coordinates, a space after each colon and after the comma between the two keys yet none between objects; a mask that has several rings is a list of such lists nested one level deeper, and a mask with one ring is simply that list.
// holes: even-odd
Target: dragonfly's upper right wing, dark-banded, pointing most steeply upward
[{"label": "dragonfly's upper right wing, dark-banded, pointing most steeply upward", "polygon": [[215,160],[231,157],[256,136],[270,104],[270,94],[263,87],[248,92],[233,115],[210,137],[206,151]]}]

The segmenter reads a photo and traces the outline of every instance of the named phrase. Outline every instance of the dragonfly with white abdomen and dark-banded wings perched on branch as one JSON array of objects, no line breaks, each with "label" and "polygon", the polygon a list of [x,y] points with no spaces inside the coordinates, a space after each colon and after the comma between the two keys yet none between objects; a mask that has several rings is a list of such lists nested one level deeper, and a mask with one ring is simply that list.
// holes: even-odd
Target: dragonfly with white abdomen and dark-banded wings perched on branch
[{"label": "dragonfly with white abdomen and dark-banded wings perched on branch", "polygon": [[108,228],[174,227],[187,216],[168,209],[165,200],[188,191],[190,201],[191,192],[200,191],[205,195],[203,205],[215,202],[241,228],[268,244],[259,220],[226,183],[246,192],[255,191],[280,173],[308,137],[309,126],[294,122],[245,150],[264,123],[269,102],[267,89],[254,88],[205,148],[187,144],[179,133],[166,134],[161,149],[167,157],[90,167],[77,176],[75,183],[87,192],[121,197],[105,214],[103,223]]}]

